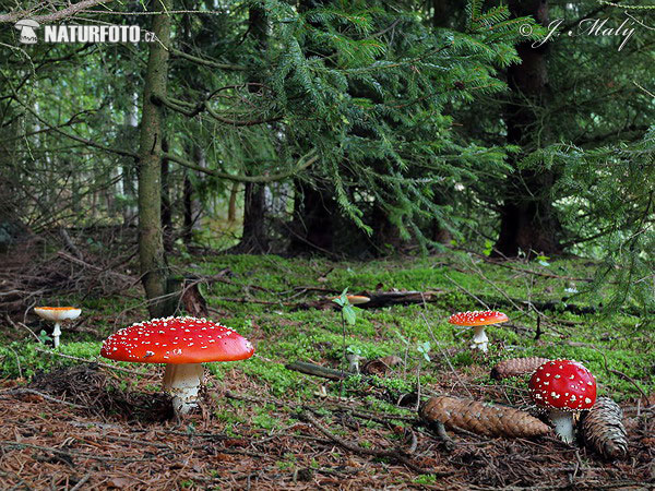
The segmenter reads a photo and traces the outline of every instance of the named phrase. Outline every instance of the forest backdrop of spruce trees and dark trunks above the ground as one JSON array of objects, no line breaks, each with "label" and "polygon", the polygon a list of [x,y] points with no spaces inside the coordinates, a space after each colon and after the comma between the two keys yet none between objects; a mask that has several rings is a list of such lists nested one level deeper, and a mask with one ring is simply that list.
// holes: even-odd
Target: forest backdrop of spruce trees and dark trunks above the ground
[{"label": "forest backdrop of spruce trees and dark trunks above the ground", "polygon": [[[98,3],[0,9],[5,251],[38,237],[73,256],[138,253],[153,315],[169,259],[207,250],[575,254],[598,261],[592,287],[618,285],[611,306],[653,308],[651,10]],[[21,45],[23,17],[158,41]]]}]

